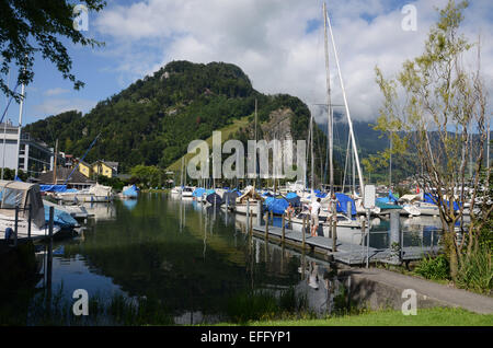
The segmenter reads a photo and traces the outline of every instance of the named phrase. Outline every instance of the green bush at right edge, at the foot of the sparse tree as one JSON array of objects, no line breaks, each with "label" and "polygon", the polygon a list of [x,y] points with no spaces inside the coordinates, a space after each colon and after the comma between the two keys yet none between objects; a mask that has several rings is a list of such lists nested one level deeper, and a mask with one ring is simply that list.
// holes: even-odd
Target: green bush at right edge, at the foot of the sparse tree
[{"label": "green bush at right edge, at the foot of the sparse tree", "polygon": [[491,293],[493,289],[491,250],[482,246],[470,256],[465,255],[459,266],[456,283],[462,289]]}]

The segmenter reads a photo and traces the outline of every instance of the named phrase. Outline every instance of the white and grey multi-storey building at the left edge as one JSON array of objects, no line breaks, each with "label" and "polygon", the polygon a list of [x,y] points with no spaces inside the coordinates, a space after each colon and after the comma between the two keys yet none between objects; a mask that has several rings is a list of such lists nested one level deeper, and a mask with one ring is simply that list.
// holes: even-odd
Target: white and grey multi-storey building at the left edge
[{"label": "white and grey multi-storey building at the left edge", "polygon": [[[19,170],[31,176],[53,170],[54,149],[48,148],[43,141],[32,138],[21,130],[21,142],[18,151],[19,126],[11,121],[0,124],[0,166],[15,170],[19,156]],[[58,156],[58,163],[64,163],[64,158]]]}]

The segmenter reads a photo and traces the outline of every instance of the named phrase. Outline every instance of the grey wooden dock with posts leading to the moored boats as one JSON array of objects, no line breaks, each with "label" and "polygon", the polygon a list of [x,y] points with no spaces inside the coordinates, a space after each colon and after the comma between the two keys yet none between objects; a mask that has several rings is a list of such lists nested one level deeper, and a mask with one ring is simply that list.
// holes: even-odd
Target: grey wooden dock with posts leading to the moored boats
[{"label": "grey wooden dock with posts leading to the moored boats", "polygon": [[[265,237],[265,225],[253,224],[252,233]],[[283,229],[270,225],[267,239],[282,241]],[[285,229],[284,239],[286,244],[303,248],[303,235],[301,232]],[[424,255],[438,251],[437,246],[408,246],[403,247],[399,255],[395,255],[390,248],[380,250],[371,246],[367,248],[366,245],[336,241],[336,251],[334,252],[332,250],[332,239],[325,236],[310,236],[309,234],[305,234],[305,248],[322,255],[332,255],[336,262],[351,266],[365,264],[367,254],[369,256],[369,263],[380,262],[400,264],[401,262],[421,259]]]}]

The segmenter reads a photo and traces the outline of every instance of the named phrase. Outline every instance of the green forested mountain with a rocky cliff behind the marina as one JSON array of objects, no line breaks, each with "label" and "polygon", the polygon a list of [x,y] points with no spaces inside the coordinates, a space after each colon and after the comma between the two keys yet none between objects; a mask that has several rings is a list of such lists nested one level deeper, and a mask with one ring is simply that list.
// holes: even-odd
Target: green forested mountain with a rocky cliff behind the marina
[{"label": "green forested mountain with a rocky cliff behind the marina", "polygon": [[[207,139],[216,129],[238,124],[229,137],[254,139],[255,100],[261,137],[279,136],[274,128],[282,125],[278,139],[287,132],[295,140],[307,139],[310,112],[298,97],[255,91],[234,65],[188,61],[168,63],[85,115],[73,111],[49,116],[27,125],[25,131],[50,146],[58,139],[59,150],[76,156],[82,156],[101,134],[87,162],[117,161],[121,172],[138,164],[165,169],[186,153],[192,140]],[[317,149],[324,148],[320,129],[314,140]],[[319,160],[323,156],[322,150],[317,152]]]}]

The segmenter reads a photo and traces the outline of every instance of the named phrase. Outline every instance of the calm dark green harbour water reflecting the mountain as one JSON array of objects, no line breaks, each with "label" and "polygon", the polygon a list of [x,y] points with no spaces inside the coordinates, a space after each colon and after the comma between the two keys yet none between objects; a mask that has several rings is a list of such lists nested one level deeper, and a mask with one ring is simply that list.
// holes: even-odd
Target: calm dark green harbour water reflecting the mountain
[{"label": "calm dark green harbour water reflecting the mountain", "polygon": [[[76,289],[87,290],[89,297],[160,299],[176,324],[219,321],[228,300],[248,290],[294,288],[318,313],[331,303],[329,263],[249,239],[242,229],[244,218],[237,221],[234,214],[164,194],[88,210],[95,217],[85,231],[54,244],[51,289],[72,302]],[[389,239],[378,231],[387,230],[388,222],[377,222],[370,241],[381,247]],[[432,234],[415,222],[404,233],[404,243],[429,244]],[[44,260],[43,254],[38,256]],[[46,263],[41,265],[43,271]],[[46,288],[46,278],[36,288]]]}]

